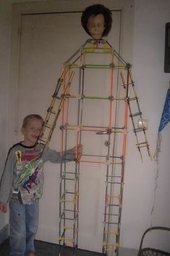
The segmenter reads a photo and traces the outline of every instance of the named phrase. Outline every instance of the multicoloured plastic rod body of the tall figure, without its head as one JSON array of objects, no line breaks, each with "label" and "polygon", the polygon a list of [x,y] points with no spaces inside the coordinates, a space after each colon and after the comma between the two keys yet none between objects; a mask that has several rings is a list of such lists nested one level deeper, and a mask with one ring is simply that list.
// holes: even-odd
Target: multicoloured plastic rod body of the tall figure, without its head
[{"label": "multicoloured plastic rod body of the tall figure, without its head", "polygon": [[[99,54],[106,54],[111,56],[111,60],[109,60],[109,64],[91,64],[87,63],[88,55],[91,55],[93,57],[93,54],[96,56]],[[86,58],[87,57],[87,58]],[[116,63],[114,63],[114,61]],[[110,73],[110,81],[109,81],[109,97],[104,97],[103,95],[85,95],[85,69],[88,68],[95,68],[95,69],[109,69]],[[63,205],[64,210],[67,209],[67,204],[70,203],[70,201],[74,202],[74,209],[73,209],[73,215],[76,216],[76,220],[74,225],[72,225],[72,235],[73,239],[76,238],[76,245],[78,244],[78,212],[79,212],[79,175],[77,173],[80,172],[80,164],[83,162],[90,163],[90,164],[105,164],[106,165],[106,202],[105,202],[105,212],[104,212],[104,228],[103,228],[103,252],[110,251],[109,247],[114,247],[115,244],[111,243],[111,233],[115,233],[115,241],[116,246],[119,244],[119,234],[120,234],[120,225],[121,225],[121,217],[122,217],[122,196],[123,196],[123,185],[124,185],[124,161],[126,157],[126,151],[127,151],[127,121],[128,121],[128,108],[130,112],[130,118],[132,119],[132,123],[134,124],[134,132],[137,139],[137,148],[140,151],[140,148],[147,147],[149,150],[148,140],[145,137],[145,142],[140,143],[137,137],[137,133],[140,131],[135,129],[135,116],[141,116],[142,113],[139,108],[138,104],[138,97],[135,91],[135,84],[132,80],[132,75],[130,73],[131,65],[129,63],[126,63],[122,57],[119,56],[119,54],[111,47],[111,45],[103,40],[95,40],[95,39],[89,39],[85,42],[85,44],[80,47],[80,49],[75,52],[72,57],[67,60],[67,62],[64,63],[64,71],[61,73],[61,78],[58,81],[56,92],[54,93],[55,100],[60,100],[59,108],[57,111],[54,110],[53,105],[51,108],[49,108],[48,113],[53,113],[56,115],[56,118],[58,119],[58,116],[60,113],[62,113],[62,124],[61,124],[61,152],[67,149],[67,140],[69,138],[69,129],[75,130],[75,144],[76,144],[76,159],[75,159],[75,178],[72,179],[70,177],[67,177],[65,174],[67,172],[67,164],[61,162],[61,183],[60,183],[60,195],[62,194],[62,190],[66,191],[67,188],[67,180],[74,181],[74,192],[70,192],[73,195],[73,200],[67,199],[67,193],[64,193],[64,195],[60,196],[60,214],[61,214],[61,205]],[[69,87],[72,83],[72,77],[73,77],[73,69],[77,69],[79,72],[79,92],[78,95],[70,95],[69,93]],[[114,71],[117,73],[116,79],[114,79]],[[69,79],[67,78],[69,74]],[[124,97],[119,97],[119,87],[120,82],[119,80],[122,79],[122,84],[124,88]],[[116,81],[115,81],[116,80]],[[67,91],[64,91],[64,89],[67,88]],[[129,90],[132,88],[134,95],[132,97],[129,97]],[[63,89],[63,93],[59,95],[59,91]],[[114,90],[116,90],[116,97],[114,96]],[[69,100],[77,100],[78,106],[77,106],[77,123],[75,125],[69,124]],[[82,125],[82,116],[83,116],[83,102],[85,99],[89,100],[108,100],[109,105],[109,111],[107,113],[108,115],[108,124],[106,127],[95,127],[95,126],[83,126]],[[116,100],[116,104],[114,105],[114,100]],[[123,100],[123,108],[124,113],[123,116],[123,127],[117,127],[117,119],[119,115],[119,100]],[[137,108],[138,108],[138,114],[135,115],[135,113],[132,113],[131,105],[130,103],[132,101],[136,102]],[[53,104],[53,103],[52,103]],[[122,103],[121,103],[122,104]],[[48,120],[48,119],[47,119]],[[56,120],[55,120],[56,121]],[[114,123],[114,125],[113,125]],[[48,121],[46,122],[46,129],[50,129],[51,132],[49,132],[49,137],[47,137],[47,142],[51,139],[51,135],[54,129],[54,125],[49,124]],[[106,156],[96,156],[96,155],[88,155],[83,154],[82,159],[78,159],[77,156],[77,145],[81,143],[82,138],[82,132],[95,132],[99,136],[100,135],[106,135],[108,138],[108,149]],[[121,156],[117,155],[117,135],[118,132],[123,132],[122,139],[120,141],[120,145],[122,148],[122,152],[120,153]],[[144,132],[143,129],[141,132]],[[113,135],[111,135],[113,133]],[[99,139],[100,137],[98,137]],[[140,155],[141,151],[140,151]],[[85,157],[88,157],[88,159],[83,159]],[[105,161],[98,161],[96,159],[91,159],[92,157],[105,157]],[[116,161],[116,157],[120,159],[121,161]],[[112,160],[111,160],[112,158]],[[111,167],[110,167],[111,166]],[[120,167],[119,167],[120,166]],[[115,172],[117,172],[117,169],[119,170],[119,175],[115,175]],[[63,174],[64,173],[64,174]],[[120,180],[114,180],[115,177],[120,177]],[[118,196],[114,194],[114,188],[118,187],[118,191],[116,193]],[[115,204],[114,199],[119,199],[119,204]],[[114,222],[111,217],[114,214],[114,209],[118,209],[118,219]],[[69,215],[67,215],[67,211],[62,213],[61,216],[63,218],[62,223],[65,226],[66,220],[70,220]],[[116,231],[114,232],[113,225],[117,225]],[[61,233],[61,222],[59,224],[59,233]],[[64,239],[67,240],[67,234],[64,232]],[[75,240],[74,240],[75,241]],[[74,244],[75,245],[75,244]],[[118,250],[116,248],[116,251],[111,250],[111,252],[115,252],[116,255],[118,255]]]}]

